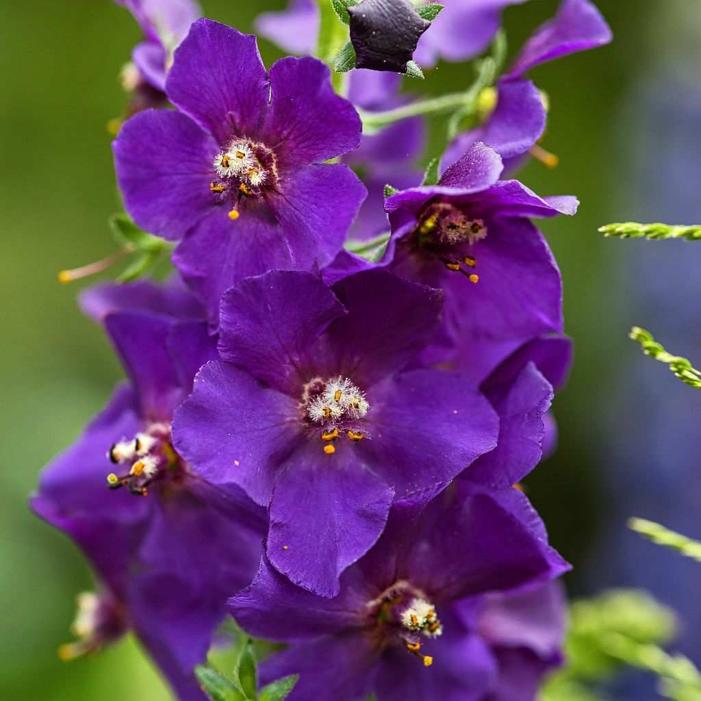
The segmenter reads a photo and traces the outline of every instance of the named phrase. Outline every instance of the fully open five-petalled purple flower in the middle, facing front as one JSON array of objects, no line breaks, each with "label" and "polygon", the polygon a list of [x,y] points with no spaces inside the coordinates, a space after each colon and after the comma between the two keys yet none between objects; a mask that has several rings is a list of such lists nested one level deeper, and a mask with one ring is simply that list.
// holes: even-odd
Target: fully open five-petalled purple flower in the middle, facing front
[{"label": "fully open five-petalled purple flower in the middle, facing front", "polygon": [[393,496],[446,484],[494,448],[497,420],[460,375],[402,372],[437,290],[386,271],[329,288],[272,271],[222,299],[219,354],[175,414],[175,447],[214,484],[269,506],[270,561],[323,596],[367,552]]}]

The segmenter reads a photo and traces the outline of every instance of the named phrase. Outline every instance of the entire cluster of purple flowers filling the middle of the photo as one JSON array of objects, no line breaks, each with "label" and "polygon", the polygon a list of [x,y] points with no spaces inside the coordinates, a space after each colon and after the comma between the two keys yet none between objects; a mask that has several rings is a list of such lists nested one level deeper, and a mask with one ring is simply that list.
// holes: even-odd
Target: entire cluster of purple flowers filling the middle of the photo
[{"label": "entire cluster of purple flowers filling the middle of the photo", "polygon": [[[475,55],[514,2],[454,0],[417,59]],[[421,120],[362,136],[354,107],[404,104],[397,76],[353,72],[347,99],[320,60],[266,71],[254,36],[189,2],[122,4],[175,109],[123,124],[118,184],[176,273],[81,299],[127,381],[32,498],[99,580],[64,655],[133,629],[201,699],[193,669],[231,613],[287,644],[259,674],[299,674],[293,701],[532,699],[561,660],[569,565],[518,483],[552,449],[571,344],[531,219],[577,202],[502,175],[544,127],[522,74],[605,43],[604,20],[564,0],[420,185]],[[304,53],[315,22],[297,1],[259,26]],[[385,230],[379,259],[344,248]]]}]

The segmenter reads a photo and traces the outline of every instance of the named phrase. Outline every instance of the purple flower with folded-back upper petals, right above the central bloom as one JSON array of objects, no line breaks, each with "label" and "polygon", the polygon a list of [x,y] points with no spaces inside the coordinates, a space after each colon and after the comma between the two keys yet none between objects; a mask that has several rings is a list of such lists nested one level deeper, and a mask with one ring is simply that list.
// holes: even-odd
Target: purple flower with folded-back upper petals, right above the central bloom
[{"label": "purple flower with folded-back upper petals, right above the central bloom", "polygon": [[[572,197],[540,198],[499,180],[501,157],[475,144],[437,185],[386,200],[392,236],[378,265],[445,292],[439,339],[499,341],[562,331],[562,282],[542,234],[526,217],[573,214]],[[370,264],[343,253],[325,271],[338,280]]]}]

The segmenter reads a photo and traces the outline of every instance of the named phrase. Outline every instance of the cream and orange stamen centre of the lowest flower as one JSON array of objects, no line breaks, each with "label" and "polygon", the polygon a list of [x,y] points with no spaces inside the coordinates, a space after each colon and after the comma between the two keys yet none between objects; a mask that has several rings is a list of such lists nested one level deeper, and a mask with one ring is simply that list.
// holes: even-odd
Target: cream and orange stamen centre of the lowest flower
[{"label": "cream and orange stamen centre of the lowest flower", "polygon": [[426,594],[409,582],[400,581],[392,585],[379,597],[368,602],[376,620],[384,626],[384,633],[395,644],[402,645],[416,655],[424,667],[433,664],[430,655],[421,652],[421,645],[443,632],[435,606]]}]

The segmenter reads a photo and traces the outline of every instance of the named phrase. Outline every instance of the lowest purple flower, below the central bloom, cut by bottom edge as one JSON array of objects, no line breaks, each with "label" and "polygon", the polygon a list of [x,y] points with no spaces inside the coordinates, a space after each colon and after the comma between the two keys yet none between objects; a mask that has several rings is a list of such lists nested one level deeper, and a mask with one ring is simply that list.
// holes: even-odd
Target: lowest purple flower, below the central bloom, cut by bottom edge
[{"label": "lowest purple flower, below the central bloom, cut by bottom edge", "polygon": [[459,489],[437,496],[418,519],[396,503],[334,599],[294,587],[264,557],[252,585],[229,602],[247,632],[290,643],[261,665],[262,681],[298,673],[290,701],[354,701],[370,692],[379,701],[486,701],[508,682],[504,648],[536,648],[550,660],[559,620],[553,636],[553,622],[541,618],[547,640],[538,639],[515,617],[500,619],[496,600],[484,595],[545,582],[567,564],[519,491],[469,482]]}]

